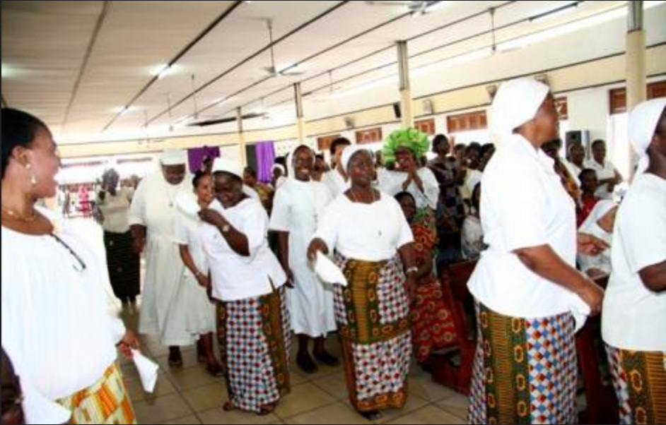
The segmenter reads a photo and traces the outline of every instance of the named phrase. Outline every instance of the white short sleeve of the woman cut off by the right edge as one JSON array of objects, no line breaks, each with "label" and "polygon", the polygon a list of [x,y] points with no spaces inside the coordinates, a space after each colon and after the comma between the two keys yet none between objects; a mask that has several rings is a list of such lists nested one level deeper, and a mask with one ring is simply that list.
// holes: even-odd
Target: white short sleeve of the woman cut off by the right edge
[{"label": "white short sleeve of the woman cut off by the right edge", "polygon": [[618,231],[631,271],[638,273],[666,261],[666,208],[660,205],[660,198],[655,198],[653,193],[641,193],[631,199],[631,203],[620,205],[621,208],[626,210]]}]

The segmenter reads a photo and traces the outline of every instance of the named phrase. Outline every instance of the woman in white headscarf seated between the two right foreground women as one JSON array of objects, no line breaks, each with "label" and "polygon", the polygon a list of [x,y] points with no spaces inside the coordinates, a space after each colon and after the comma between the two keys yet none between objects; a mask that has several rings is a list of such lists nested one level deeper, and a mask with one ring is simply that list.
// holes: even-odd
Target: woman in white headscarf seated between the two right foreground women
[{"label": "woman in white headscarf seated between the two right foreground women", "polygon": [[[613,227],[615,225],[616,213],[616,203],[612,200],[600,200],[578,229],[580,232],[591,234],[601,239],[610,247],[613,241]],[[608,276],[611,272],[611,249],[604,249],[597,256],[578,253],[577,262],[580,270],[592,277],[592,279]]]}]

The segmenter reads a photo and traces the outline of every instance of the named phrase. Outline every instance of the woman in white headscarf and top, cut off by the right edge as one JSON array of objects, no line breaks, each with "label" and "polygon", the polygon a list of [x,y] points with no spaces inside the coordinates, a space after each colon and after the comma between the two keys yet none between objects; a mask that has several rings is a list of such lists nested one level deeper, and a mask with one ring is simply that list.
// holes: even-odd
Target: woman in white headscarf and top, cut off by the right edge
[{"label": "woman in white headscarf and top, cut off by the right edge", "polygon": [[[629,117],[641,158],[617,213],[602,316],[622,424],[666,422],[666,99]],[[642,174],[645,171],[645,174]]]}]

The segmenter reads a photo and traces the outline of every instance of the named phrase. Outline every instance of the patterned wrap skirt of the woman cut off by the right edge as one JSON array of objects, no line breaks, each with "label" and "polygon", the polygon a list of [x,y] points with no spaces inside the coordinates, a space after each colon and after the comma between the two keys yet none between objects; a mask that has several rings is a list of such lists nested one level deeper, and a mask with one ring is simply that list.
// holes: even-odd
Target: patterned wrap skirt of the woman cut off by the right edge
[{"label": "patterned wrap skirt of the woman cut off by the right edge", "polygon": [[621,424],[666,424],[666,352],[606,346]]}]

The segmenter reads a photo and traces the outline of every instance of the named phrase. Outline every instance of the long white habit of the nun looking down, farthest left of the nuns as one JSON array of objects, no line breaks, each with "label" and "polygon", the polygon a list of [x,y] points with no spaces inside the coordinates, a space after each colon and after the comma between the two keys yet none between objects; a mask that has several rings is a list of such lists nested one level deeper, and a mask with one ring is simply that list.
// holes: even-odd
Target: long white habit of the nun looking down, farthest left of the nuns
[{"label": "long white habit of the nun looking down, farthest left of the nuns", "polygon": [[130,225],[146,227],[146,277],[139,333],[159,335],[164,345],[172,345],[178,340],[177,333],[170,332],[166,318],[183,268],[173,232],[177,217],[174,200],[182,192],[191,192],[187,176],[181,184],[174,186],[157,172],[146,177],[136,188],[129,212]]}]

